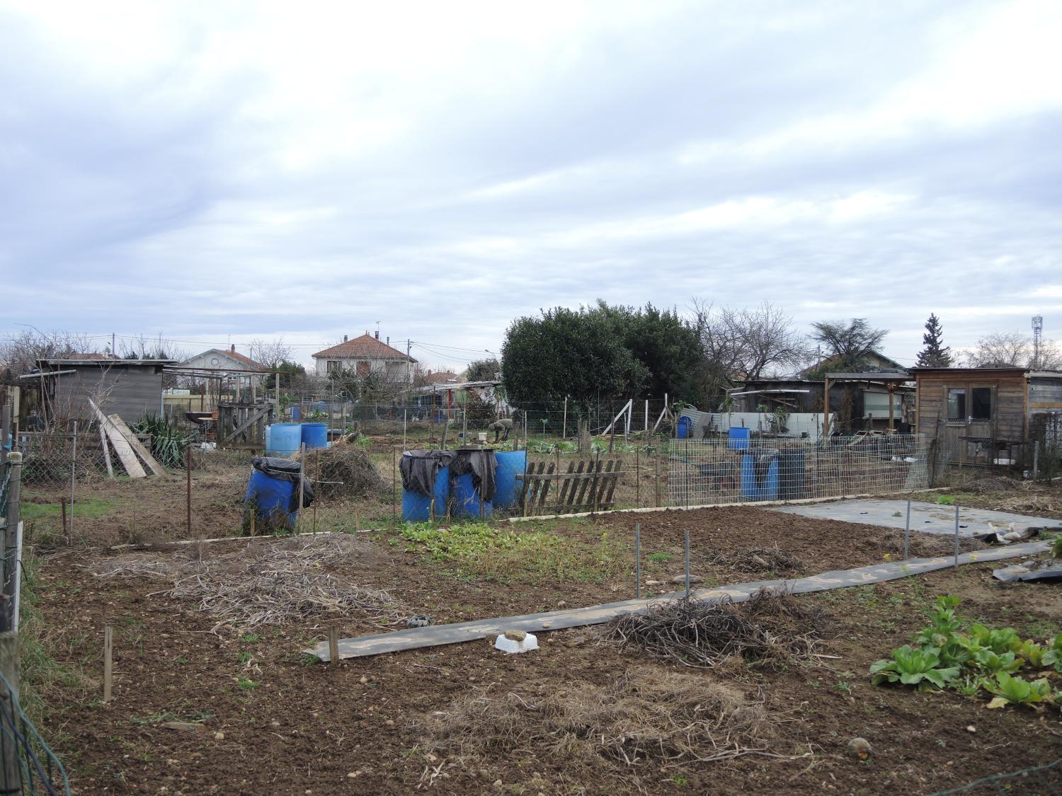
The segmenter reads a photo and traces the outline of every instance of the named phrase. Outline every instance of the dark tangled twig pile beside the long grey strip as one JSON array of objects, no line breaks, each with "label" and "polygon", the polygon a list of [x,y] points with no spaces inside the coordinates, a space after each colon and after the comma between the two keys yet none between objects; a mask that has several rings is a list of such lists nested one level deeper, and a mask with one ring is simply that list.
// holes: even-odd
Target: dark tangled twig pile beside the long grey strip
[{"label": "dark tangled twig pile beside the long grey strip", "polygon": [[760,590],[744,603],[671,600],[606,626],[604,639],[687,667],[717,667],[732,656],[778,667],[807,658],[827,621],[818,608]]}]

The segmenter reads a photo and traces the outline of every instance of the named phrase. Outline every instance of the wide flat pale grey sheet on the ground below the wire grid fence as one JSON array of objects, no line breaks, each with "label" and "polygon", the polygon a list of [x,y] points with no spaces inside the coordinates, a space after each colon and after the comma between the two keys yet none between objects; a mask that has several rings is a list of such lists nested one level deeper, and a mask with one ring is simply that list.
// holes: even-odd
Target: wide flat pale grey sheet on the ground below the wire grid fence
[{"label": "wide flat pale grey sheet on the ground below the wire grid fence", "polygon": [[[799,514],[801,517],[813,517],[824,520],[840,520],[842,522],[861,522],[881,527],[905,527],[907,517],[906,500],[839,500],[833,503],[807,503],[791,506],[771,506],[772,512]],[[1010,512],[990,512],[986,508],[959,507],[959,535],[973,536],[987,534],[991,529],[989,522],[997,527],[1013,522],[1014,529],[1025,527],[1059,527],[1062,520],[1046,517],[1029,517]],[[937,503],[921,503],[911,501],[911,530],[926,534],[955,534],[955,506]]]}]

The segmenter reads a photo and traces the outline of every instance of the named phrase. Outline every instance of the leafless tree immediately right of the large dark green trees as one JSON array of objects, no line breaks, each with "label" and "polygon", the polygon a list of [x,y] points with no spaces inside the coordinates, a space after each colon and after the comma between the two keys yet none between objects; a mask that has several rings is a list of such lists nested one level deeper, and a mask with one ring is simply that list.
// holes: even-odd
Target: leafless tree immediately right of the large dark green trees
[{"label": "leafless tree immediately right of the large dark green trees", "polygon": [[715,310],[695,299],[693,308],[713,382],[774,376],[807,360],[806,343],[792,316],[770,301],[751,310]]}]

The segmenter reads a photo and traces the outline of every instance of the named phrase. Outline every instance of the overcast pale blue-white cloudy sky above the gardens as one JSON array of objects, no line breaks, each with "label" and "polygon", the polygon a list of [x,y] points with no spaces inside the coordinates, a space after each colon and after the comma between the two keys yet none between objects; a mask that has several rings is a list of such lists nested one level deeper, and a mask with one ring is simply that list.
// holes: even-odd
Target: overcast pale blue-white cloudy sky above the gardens
[{"label": "overcast pale blue-white cloudy sky above the gardens", "polygon": [[1062,338],[1060,41],[1058,0],[0,0],[0,333],[460,366],[700,297],[905,364],[930,311]]}]

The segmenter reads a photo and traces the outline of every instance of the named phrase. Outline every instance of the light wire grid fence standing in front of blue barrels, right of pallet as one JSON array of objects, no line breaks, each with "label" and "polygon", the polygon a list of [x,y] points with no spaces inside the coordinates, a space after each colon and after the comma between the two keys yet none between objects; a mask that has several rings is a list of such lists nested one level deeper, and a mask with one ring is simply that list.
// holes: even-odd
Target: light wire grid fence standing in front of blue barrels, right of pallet
[{"label": "light wire grid fence standing in front of blue barrels, right of pallet", "polygon": [[922,434],[669,440],[671,506],[879,495],[929,486]]}]

